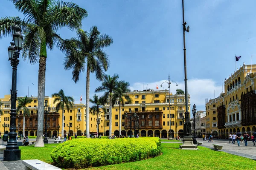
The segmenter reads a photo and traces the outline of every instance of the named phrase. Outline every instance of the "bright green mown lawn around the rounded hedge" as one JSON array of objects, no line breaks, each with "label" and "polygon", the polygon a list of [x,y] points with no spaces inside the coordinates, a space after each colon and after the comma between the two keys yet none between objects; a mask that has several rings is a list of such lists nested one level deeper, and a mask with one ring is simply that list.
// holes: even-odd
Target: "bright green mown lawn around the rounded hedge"
[{"label": "bright green mown lawn around the rounded hedge", "polygon": [[[256,168],[255,161],[252,159],[206,147],[198,147],[200,150],[180,150],[179,145],[162,143],[163,154],[161,156],[124,164],[91,167],[89,170],[251,170]],[[45,144],[45,147],[22,146],[20,147],[21,159],[39,159],[51,164],[50,152],[56,146],[58,144]]]}]

